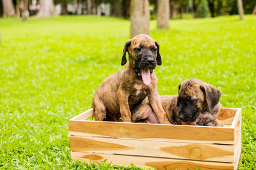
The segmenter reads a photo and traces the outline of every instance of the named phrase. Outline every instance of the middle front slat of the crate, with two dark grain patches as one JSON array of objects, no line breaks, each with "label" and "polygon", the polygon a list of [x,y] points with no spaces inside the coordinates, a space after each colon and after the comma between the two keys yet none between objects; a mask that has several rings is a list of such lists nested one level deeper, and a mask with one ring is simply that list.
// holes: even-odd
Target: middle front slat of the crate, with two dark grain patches
[{"label": "middle front slat of the crate, with two dark grain patches", "polygon": [[76,152],[234,162],[234,145],[70,136],[70,150]]}]

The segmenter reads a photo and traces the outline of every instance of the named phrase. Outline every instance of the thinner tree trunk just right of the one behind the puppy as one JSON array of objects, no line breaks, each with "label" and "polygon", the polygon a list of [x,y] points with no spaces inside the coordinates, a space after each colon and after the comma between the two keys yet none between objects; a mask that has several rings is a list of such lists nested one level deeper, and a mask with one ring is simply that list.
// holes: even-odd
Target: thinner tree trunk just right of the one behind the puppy
[{"label": "thinner tree trunk just right of the one behind the puppy", "polygon": [[157,0],[157,28],[168,28],[169,18],[169,0]]}]

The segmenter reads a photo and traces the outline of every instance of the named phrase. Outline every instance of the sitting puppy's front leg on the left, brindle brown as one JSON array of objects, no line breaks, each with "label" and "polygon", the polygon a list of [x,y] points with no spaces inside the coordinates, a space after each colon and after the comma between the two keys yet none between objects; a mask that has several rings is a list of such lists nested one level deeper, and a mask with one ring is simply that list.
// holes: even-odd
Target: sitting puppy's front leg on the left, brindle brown
[{"label": "sitting puppy's front leg on the left, brindle brown", "polygon": [[131,122],[132,114],[131,114],[129,103],[128,103],[129,94],[125,92],[125,90],[122,89],[122,87],[120,87],[118,89],[117,96],[118,96],[118,102],[120,106],[120,114],[122,117],[122,122]]}]

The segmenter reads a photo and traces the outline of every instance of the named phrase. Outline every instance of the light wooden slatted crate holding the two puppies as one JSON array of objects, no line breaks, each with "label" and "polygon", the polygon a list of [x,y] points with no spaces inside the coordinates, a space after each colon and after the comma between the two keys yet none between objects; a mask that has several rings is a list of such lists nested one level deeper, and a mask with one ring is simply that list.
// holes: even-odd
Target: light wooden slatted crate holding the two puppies
[{"label": "light wooden slatted crate holding the two puppies", "polygon": [[72,159],[156,169],[237,169],[240,108],[221,108],[224,127],[85,120],[92,116],[93,109],[68,121]]}]

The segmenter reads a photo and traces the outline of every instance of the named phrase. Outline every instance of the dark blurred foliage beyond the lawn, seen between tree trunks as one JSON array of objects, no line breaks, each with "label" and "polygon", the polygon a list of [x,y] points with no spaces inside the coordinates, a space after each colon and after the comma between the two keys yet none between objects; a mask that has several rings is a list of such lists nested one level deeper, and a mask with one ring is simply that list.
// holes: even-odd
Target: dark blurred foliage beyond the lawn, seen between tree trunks
[{"label": "dark blurred foliage beyond the lawn, seen between tree trunks", "polygon": [[[24,1],[28,1],[29,15],[35,15],[36,11],[40,8],[40,5],[38,5],[40,4],[40,0],[1,0],[0,17],[4,16],[3,1],[12,1],[13,6],[16,7],[16,13],[17,3],[20,5]],[[62,8],[60,13],[58,13],[60,15],[92,14],[123,18],[129,18],[130,1],[131,0],[53,0],[56,8],[58,8],[57,6],[61,6]],[[149,0],[149,3],[151,19],[155,19],[157,13],[157,0]],[[102,4],[108,5],[109,13],[99,13],[99,10],[102,11],[102,8],[105,8],[106,10],[106,6],[102,7]],[[38,5],[38,8],[33,8],[33,5]],[[245,14],[253,13],[253,10],[256,8],[256,0],[243,0],[243,7]],[[63,10],[64,8],[66,10]],[[88,8],[92,8],[92,13],[88,13]],[[195,18],[217,17],[221,15],[236,15],[237,13],[237,0],[170,0],[171,18],[188,18],[188,16]]]}]

